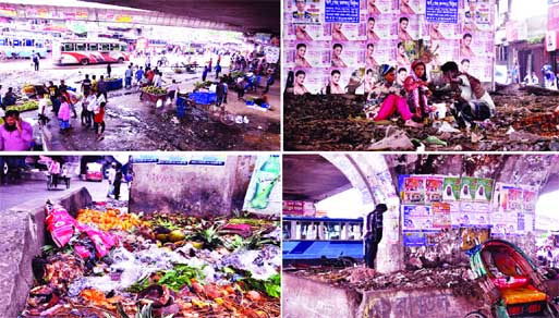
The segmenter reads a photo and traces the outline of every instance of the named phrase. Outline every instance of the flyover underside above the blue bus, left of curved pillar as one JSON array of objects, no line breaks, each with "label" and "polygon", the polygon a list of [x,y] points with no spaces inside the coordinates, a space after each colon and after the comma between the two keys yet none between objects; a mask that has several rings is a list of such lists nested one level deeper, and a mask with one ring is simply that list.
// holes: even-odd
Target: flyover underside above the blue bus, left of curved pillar
[{"label": "flyover underside above the blue bus, left of curved pillar", "polygon": [[324,157],[283,155],[283,198],[319,201],[350,189],[351,183]]}]

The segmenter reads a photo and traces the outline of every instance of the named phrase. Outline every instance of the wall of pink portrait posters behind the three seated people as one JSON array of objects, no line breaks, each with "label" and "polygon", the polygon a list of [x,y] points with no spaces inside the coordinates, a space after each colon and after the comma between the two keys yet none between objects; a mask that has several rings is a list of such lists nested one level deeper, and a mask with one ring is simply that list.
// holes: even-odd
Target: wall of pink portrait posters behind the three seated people
[{"label": "wall of pink portrait posters behind the three seated people", "polygon": [[410,72],[415,59],[428,62],[429,72],[467,59],[470,74],[491,82],[495,0],[283,3],[283,78],[292,71],[308,93],[342,94],[359,86],[356,94],[363,94],[368,70],[376,74],[387,63]]}]

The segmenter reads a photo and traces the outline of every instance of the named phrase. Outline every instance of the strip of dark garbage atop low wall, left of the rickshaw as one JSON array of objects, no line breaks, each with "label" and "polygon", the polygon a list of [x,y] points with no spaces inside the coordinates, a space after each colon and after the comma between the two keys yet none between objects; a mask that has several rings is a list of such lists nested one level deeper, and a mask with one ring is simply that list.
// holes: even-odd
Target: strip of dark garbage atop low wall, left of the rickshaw
[{"label": "strip of dark garbage atop low wall, left of the rickshaw", "polygon": [[338,288],[359,292],[379,290],[449,289],[457,296],[481,297],[483,291],[474,280],[470,267],[447,266],[402,270],[381,274],[374,269],[349,267],[344,269],[315,267],[293,271],[294,274]]}]

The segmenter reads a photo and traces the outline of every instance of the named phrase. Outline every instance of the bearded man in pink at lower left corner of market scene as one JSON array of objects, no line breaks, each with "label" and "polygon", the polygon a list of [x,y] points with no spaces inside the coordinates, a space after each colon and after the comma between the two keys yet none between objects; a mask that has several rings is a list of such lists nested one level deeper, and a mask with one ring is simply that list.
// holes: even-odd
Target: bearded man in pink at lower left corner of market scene
[{"label": "bearded man in pink at lower left corner of market scene", "polygon": [[17,110],[8,110],[4,115],[4,124],[0,126],[0,151],[29,150],[32,140],[32,125],[20,118]]}]

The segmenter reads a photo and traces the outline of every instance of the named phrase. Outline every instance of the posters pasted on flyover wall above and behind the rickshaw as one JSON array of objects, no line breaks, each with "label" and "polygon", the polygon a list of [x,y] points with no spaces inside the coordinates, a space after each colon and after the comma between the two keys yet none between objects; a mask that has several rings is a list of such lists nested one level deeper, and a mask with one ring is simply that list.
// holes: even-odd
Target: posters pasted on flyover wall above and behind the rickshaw
[{"label": "posters pasted on flyover wall above and behind the rickshaw", "polygon": [[465,252],[488,238],[513,242],[528,255],[534,252],[538,197],[534,186],[481,178],[401,175],[399,191],[408,265],[467,261]]}]

